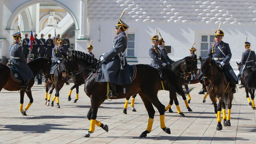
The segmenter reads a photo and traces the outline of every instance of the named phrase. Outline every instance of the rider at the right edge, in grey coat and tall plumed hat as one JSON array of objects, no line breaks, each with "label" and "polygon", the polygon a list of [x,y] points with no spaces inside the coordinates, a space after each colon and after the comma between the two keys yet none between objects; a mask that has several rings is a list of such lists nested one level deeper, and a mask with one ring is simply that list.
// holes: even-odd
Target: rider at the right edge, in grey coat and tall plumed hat
[{"label": "rider at the right edge, in grey coat and tall plumed hat", "polygon": [[[243,70],[248,67],[252,66],[256,68],[256,54],[253,50],[250,49],[250,43],[245,41],[245,52],[242,54],[241,63],[243,67],[241,67],[239,74],[237,75],[237,78],[241,80],[241,74],[243,73]],[[241,81],[241,86],[239,88],[243,87],[243,82]]]}]

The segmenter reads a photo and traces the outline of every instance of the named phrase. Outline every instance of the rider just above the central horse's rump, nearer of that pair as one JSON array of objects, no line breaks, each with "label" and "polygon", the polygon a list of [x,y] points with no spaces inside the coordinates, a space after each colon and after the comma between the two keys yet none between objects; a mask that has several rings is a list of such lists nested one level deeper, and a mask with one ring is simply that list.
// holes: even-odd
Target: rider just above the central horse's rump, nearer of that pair
[{"label": "rider just above the central horse's rump, nearer of that pair", "polygon": [[162,60],[161,50],[158,48],[159,39],[158,35],[152,36],[151,38],[152,46],[148,51],[151,58],[151,67],[159,69],[160,67],[165,67],[167,64]]}]

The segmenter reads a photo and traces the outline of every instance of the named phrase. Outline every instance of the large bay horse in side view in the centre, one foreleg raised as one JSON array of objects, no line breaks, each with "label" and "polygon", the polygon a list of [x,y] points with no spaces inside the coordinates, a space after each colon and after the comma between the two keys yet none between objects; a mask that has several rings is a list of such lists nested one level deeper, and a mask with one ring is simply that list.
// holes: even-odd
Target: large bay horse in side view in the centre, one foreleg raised
[{"label": "large bay horse in side view in the centre, one foreleg raised", "polygon": [[[99,106],[107,99],[108,83],[95,82],[96,74],[91,72],[96,68],[98,64],[97,59],[91,58],[88,54],[78,51],[71,51],[68,54],[66,61],[66,68],[72,69],[78,68],[79,70],[86,69],[82,72],[85,78],[84,91],[85,94],[91,99],[91,107],[87,113],[87,118],[91,121],[91,126],[88,132],[83,137],[89,137],[91,133],[95,131],[95,124],[97,126],[105,126],[101,122],[96,120]],[[126,85],[126,93],[123,93],[123,86],[116,85],[118,97],[113,99],[122,99],[130,97],[130,95],[139,94],[144,102],[144,105],[148,112],[148,126],[143,131],[140,137],[147,137],[147,134],[152,130],[152,124],[154,121],[155,110],[153,105],[158,109],[160,113],[160,127],[166,133],[171,133],[170,128],[165,126],[165,106],[159,101],[157,94],[161,85],[161,78],[156,68],[147,65],[135,65],[137,68],[137,74],[132,84]],[[67,68],[68,67],[68,68]],[[97,69],[97,68],[96,68]],[[72,74],[72,72],[71,72]],[[173,79],[169,79],[173,81]],[[175,82],[173,82],[175,83]],[[153,104],[153,105],[152,105]]]}]

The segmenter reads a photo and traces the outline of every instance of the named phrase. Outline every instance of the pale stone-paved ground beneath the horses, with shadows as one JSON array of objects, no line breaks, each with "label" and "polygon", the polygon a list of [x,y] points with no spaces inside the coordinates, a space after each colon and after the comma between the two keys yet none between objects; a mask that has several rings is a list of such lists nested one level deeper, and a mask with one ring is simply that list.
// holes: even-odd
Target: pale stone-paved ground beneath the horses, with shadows
[{"label": "pale stone-paved ground beneath the horses, with shadows", "polygon": [[[44,85],[34,85],[32,94],[34,102],[27,111],[28,116],[19,113],[20,96],[18,92],[2,90],[0,93],[0,143],[4,144],[171,144],[171,143],[248,143],[256,144],[256,110],[252,110],[245,97],[245,90],[239,89],[234,95],[231,113],[231,127],[216,131],[217,119],[209,97],[202,103],[203,95],[198,95],[200,84],[189,85],[193,112],[188,112],[181,98],[180,108],[186,117],[176,113],[165,112],[165,125],[171,129],[171,134],[160,128],[159,113],[156,110],[154,124],[147,138],[140,138],[141,132],[147,128],[148,114],[139,96],[135,99],[137,112],[128,109],[122,113],[125,99],[105,101],[98,110],[97,120],[108,124],[106,132],[96,126],[91,137],[82,137],[90,127],[86,115],[90,107],[89,98],[80,86],[80,97],[77,103],[75,90],[72,100],[67,101],[70,85],[64,85],[60,92],[60,106],[46,106]],[[54,91],[55,92],[55,91]],[[161,90],[158,97],[165,106],[169,102],[169,92]],[[131,100],[130,100],[131,101]],[[24,107],[29,103],[24,98]],[[130,103],[129,103],[130,106]],[[223,121],[222,121],[223,122]]]}]

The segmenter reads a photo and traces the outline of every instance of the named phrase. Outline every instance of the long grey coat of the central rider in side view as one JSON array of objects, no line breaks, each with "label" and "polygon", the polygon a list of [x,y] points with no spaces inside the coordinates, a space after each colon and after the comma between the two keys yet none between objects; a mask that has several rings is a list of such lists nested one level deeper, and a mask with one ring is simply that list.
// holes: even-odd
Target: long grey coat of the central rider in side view
[{"label": "long grey coat of the central rider in side view", "polygon": [[[111,51],[106,53],[101,63],[101,67],[97,72],[95,82],[110,82],[116,85],[124,85],[132,83],[130,71],[126,59],[124,60],[124,69],[121,68],[121,60],[118,54],[125,52],[127,48],[127,37],[125,32],[121,32],[115,37]],[[125,79],[125,80],[124,80]]]}]

